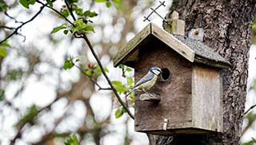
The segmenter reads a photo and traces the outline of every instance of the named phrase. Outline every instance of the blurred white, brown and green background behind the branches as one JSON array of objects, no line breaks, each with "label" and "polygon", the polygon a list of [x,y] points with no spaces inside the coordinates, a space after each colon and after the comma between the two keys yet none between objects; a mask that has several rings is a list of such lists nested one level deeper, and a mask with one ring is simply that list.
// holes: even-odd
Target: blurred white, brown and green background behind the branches
[{"label": "blurred white, brown and green background behind the branches", "polygon": [[[40,7],[36,4],[30,10],[17,1],[5,1],[10,9],[7,14],[17,21],[26,21]],[[162,17],[170,8],[158,9]],[[106,7],[105,3],[79,2],[84,10],[94,10],[99,15],[93,18],[95,33],[90,41],[102,64],[109,70],[111,80],[123,78],[122,69],[114,68],[112,58],[122,45],[149,22],[143,17],[150,13],[150,7],[158,6],[154,0],[126,0],[118,5]],[[61,8],[63,1],[54,2]],[[58,9],[59,10],[59,9]],[[162,19],[153,15],[151,22],[162,26]],[[123,115],[116,119],[118,108],[114,94],[98,90],[79,69],[63,69],[67,57],[78,57],[80,65],[91,68],[96,61],[84,41],[66,37],[63,33],[50,34],[51,30],[64,23],[50,10],[44,10],[33,22],[22,27],[20,35],[10,38],[11,48],[7,57],[0,59],[0,144],[63,144],[67,136],[75,134],[81,144],[148,144],[145,134],[134,131],[134,121]],[[14,19],[0,13],[0,25],[16,27]],[[255,25],[255,24],[254,24]],[[256,104],[256,25],[252,26],[252,45],[246,109]],[[0,28],[0,40],[11,30]],[[127,72],[133,76],[133,71]],[[108,87],[101,74],[95,76],[98,84]],[[131,111],[134,110],[131,108]],[[256,109],[244,120],[242,143],[248,144],[256,137]]]}]

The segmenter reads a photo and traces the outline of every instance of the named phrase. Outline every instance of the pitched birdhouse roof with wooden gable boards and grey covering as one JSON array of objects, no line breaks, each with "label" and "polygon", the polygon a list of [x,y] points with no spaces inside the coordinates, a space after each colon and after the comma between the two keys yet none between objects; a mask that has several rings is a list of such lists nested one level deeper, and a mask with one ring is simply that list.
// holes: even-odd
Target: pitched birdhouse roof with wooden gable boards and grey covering
[{"label": "pitched birdhouse roof with wooden gable boards and grey covering", "polygon": [[161,41],[192,63],[198,62],[217,68],[230,67],[230,62],[202,41],[167,33],[153,23],[146,25],[142,31],[118,51],[118,54],[114,57],[114,66],[125,64],[133,67],[134,62],[138,61],[138,50],[147,43],[152,43],[152,41]]}]

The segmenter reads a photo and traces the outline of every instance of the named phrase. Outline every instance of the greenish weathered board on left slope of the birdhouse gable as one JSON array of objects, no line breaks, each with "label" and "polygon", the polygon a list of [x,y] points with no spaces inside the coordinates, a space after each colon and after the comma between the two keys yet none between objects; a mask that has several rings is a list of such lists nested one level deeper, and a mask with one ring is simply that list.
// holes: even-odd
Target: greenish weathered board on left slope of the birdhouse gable
[{"label": "greenish weathered board on left slope of the birdhouse gable", "polygon": [[140,31],[134,38],[132,38],[126,45],[124,45],[119,51],[116,57],[114,57],[114,67],[117,67],[125,57],[129,57],[129,53],[141,43],[151,33],[151,23],[146,25],[142,31]]}]

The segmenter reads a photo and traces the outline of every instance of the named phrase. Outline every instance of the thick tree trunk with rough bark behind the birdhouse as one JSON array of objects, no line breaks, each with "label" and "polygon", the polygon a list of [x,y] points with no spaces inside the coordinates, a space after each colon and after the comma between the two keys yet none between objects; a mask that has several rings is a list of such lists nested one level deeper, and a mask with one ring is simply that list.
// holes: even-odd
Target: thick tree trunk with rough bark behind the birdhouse
[{"label": "thick tree trunk with rough bark behind the birdhouse", "polygon": [[[246,82],[250,48],[250,24],[255,0],[179,0],[170,9],[186,21],[186,32],[205,30],[204,42],[232,67],[223,71],[223,134],[154,136],[154,144],[238,144],[246,102]],[[166,15],[168,16],[168,14]],[[170,142],[170,140],[172,140]]]}]

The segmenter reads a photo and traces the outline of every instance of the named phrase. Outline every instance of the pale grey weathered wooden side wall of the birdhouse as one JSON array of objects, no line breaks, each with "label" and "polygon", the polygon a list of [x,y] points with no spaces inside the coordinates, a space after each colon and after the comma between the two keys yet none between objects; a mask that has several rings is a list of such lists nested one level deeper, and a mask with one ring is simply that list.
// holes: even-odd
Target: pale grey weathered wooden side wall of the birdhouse
[{"label": "pale grey weathered wooden side wall of the birdhouse", "polygon": [[218,69],[195,64],[192,72],[193,127],[223,131],[222,76]]}]

